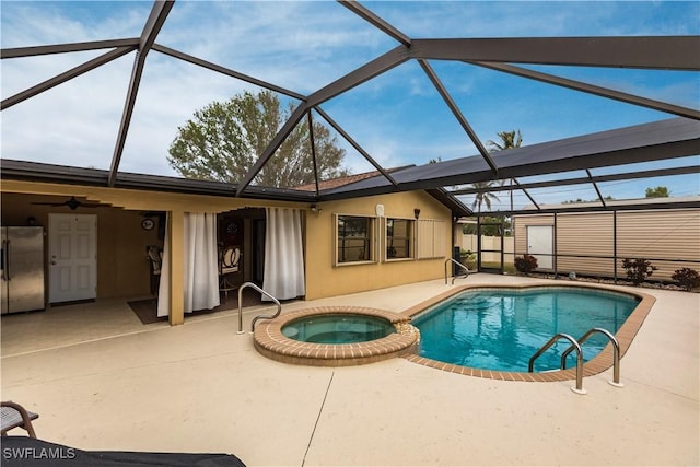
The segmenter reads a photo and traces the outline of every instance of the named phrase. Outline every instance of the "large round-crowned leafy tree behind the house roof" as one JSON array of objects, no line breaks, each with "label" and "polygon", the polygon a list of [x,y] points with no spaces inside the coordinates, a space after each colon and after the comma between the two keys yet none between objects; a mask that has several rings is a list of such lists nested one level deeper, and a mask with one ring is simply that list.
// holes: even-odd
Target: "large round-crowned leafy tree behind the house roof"
[{"label": "large round-crowned leafy tree behind the house roof", "polygon": [[[195,112],[177,128],[167,162],[186,178],[237,183],[275,138],[293,112],[271,91],[244,92],[226,102],[214,102]],[[318,177],[342,177],[345,150],[325,126],[314,122]],[[262,186],[294,187],[314,182],[308,122],[301,121],[257,175]]]}]

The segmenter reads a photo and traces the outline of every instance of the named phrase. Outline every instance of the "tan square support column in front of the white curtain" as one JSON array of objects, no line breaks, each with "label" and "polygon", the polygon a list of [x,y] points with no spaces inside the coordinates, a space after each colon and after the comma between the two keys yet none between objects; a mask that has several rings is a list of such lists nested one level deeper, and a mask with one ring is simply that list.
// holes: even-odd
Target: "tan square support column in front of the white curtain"
[{"label": "tan square support column in front of the white curtain", "polygon": [[171,261],[171,326],[185,323],[185,212],[171,211],[168,215],[167,235],[170,241]]}]

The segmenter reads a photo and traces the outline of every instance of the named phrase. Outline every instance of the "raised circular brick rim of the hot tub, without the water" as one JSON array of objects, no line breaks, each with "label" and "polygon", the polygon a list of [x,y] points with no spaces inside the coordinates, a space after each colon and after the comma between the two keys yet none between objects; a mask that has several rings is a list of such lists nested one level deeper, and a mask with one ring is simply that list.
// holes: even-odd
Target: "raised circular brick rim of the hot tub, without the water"
[{"label": "raised circular brick rim of the hot tub, without the water", "polygon": [[[354,343],[311,343],[288,338],[282,327],[293,319],[315,315],[357,314],[388,320],[396,328],[381,339]],[[255,349],[282,363],[312,366],[351,366],[416,353],[419,332],[410,316],[361,306],[319,306],[284,314],[258,324],[254,332]]]}]

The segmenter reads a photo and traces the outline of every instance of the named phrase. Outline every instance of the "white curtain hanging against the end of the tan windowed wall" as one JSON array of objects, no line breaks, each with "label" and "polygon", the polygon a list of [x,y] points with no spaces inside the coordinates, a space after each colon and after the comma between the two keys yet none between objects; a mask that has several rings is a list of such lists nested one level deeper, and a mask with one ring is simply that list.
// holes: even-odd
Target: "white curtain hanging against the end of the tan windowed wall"
[{"label": "white curtain hanging against the end of the tan windowed wall", "polygon": [[[296,299],[304,289],[302,213],[299,209],[267,208],[265,279],[262,289],[279,300]],[[262,295],[264,300],[267,300]]]}]

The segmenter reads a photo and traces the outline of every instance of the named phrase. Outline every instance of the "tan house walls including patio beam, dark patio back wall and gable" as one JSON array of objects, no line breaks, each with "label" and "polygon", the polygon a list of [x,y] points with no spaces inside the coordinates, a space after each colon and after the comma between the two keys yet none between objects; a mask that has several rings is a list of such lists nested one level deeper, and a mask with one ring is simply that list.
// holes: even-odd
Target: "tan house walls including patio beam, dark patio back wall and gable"
[{"label": "tan house walls including patio beam, dark patio back wall and gable", "polygon": [[[184,212],[228,212],[240,208],[288,207],[305,211],[305,268],[306,299],[380,289],[416,281],[439,279],[444,276],[444,261],[452,250],[451,211],[423,191],[392,194],[319,203],[319,212],[310,210],[308,203],[273,202],[231,197],[210,197],[162,191],[126,190],[105,187],[85,187],[58,184],[4,180],[2,184],[2,222],[26,223],[34,215],[37,223],[48,226],[49,212],[73,212],[68,208],[50,208],[32,205],[46,200],[44,196],[88,197],[92,202],[110,203],[105,208],[80,208],[77,213],[97,215],[97,297],[139,297],[150,294],[150,264],[147,260],[148,245],[162,246],[158,227],[141,229],[144,211],[171,212],[175,222],[175,240],[182,238]],[[55,199],[55,198],[51,198]],[[421,220],[441,220],[445,223],[444,237],[439,242],[445,247],[445,256],[419,260],[378,261],[368,265],[334,266],[332,214],[376,214],[376,205],[384,205],[385,217],[415,219],[415,209],[420,209]],[[174,247],[173,254],[178,250]],[[179,248],[182,250],[182,248]],[[180,255],[182,256],[182,255]],[[247,258],[249,260],[249,258]],[[182,262],[182,258],[179,258]],[[178,258],[171,259],[177,266]],[[175,278],[176,279],[176,278]],[[173,281],[172,304],[179,301],[182,284]],[[182,301],[182,300],[180,300]]]}]

